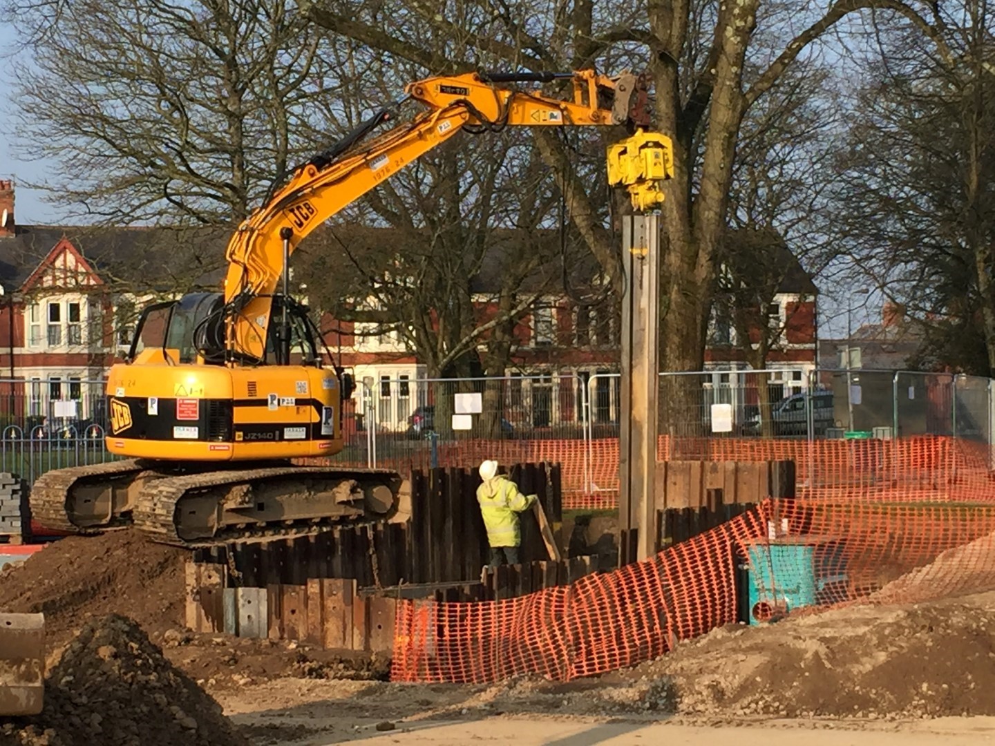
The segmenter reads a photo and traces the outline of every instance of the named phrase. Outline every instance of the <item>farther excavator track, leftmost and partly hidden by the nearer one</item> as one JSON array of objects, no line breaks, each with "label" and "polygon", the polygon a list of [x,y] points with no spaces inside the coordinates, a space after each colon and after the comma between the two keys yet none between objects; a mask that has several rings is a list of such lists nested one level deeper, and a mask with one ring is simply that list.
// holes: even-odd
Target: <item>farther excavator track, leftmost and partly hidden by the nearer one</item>
[{"label": "farther excavator track, leftmost and partly hidden by the nearer one", "polygon": [[96,534],[131,524],[126,492],[147,466],[137,459],[46,471],[31,487],[31,516],[46,528]]}]

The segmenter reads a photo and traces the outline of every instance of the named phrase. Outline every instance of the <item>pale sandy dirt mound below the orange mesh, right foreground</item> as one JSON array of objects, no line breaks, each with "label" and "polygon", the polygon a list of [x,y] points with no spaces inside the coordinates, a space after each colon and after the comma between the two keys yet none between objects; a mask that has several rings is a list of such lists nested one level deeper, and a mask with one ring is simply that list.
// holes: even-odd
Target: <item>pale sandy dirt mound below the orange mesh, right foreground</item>
[{"label": "pale sandy dirt mound below the orange mesh, right foreground", "polygon": [[995,715],[995,594],[716,630],[624,675],[638,709],[726,715]]}]

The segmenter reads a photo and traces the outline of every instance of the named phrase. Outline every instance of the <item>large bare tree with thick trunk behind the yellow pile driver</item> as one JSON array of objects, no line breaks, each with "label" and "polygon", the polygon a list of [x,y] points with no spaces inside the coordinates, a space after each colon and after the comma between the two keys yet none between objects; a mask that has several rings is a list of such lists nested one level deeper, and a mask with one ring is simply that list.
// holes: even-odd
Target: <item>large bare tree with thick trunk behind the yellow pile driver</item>
[{"label": "large bare tree with thick trunk behind the yellow pile driver", "polygon": [[[655,82],[656,125],[674,137],[676,151],[677,175],[663,206],[661,364],[666,370],[695,370],[702,363],[704,320],[746,112],[809,45],[852,13],[877,9],[890,22],[907,19],[933,41],[938,54],[947,54],[934,6],[917,0],[835,0],[801,7],[761,0],[651,0],[643,16],[642,8],[617,0],[551,0],[542,7],[454,0],[445,13],[433,3],[400,0],[301,4],[315,23],[415,62],[426,73],[495,65],[569,70],[643,61]],[[761,21],[765,27],[758,30]],[[427,28],[448,36],[445,55],[420,43]],[[755,76],[747,76],[749,63],[758,69]],[[536,130],[535,141],[568,201],[576,230],[603,270],[620,282],[600,195],[584,188],[572,154],[555,133]]]}]

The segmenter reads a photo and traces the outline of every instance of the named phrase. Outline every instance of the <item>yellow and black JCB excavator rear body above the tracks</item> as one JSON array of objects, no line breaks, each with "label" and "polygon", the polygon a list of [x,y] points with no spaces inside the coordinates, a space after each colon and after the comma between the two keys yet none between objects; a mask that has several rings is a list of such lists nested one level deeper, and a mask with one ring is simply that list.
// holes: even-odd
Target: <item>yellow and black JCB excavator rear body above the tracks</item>
[{"label": "yellow and black JCB excavator rear body above the tracks", "polygon": [[107,450],[163,461],[259,461],[342,450],[334,371],[143,362],[110,369]]}]

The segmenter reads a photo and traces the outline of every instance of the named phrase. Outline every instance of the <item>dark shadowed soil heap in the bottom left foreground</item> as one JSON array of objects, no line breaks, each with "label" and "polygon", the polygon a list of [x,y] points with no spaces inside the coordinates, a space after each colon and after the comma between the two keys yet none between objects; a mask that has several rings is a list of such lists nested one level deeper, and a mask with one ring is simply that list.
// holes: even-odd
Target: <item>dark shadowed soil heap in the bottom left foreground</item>
[{"label": "dark shadowed soil heap in the bottom left foreground", "polygon": [[246,743],[221,705],[117,615],[90,622],[69,645],[47,676],[45,711],[0,733],[25,746]]}]

